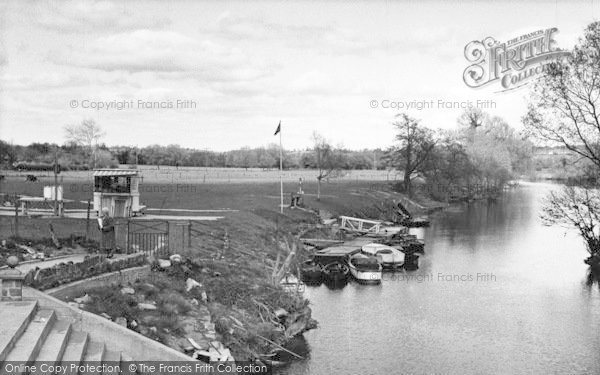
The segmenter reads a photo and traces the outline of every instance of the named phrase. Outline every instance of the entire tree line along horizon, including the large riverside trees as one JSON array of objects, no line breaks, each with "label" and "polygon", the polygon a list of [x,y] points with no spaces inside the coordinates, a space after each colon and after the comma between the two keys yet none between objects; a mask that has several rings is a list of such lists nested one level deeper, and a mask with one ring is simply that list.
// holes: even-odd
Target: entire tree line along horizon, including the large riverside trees
[{"label": "entire tree line along horizon, including the large riverside trees", "polygon": [[[404,179],[397,188],[412,196],[414,185],[439,200],[492,196],[507,180],[532,171],[533,144],[501,117],[471,107],[446,130],[433,130],[407,114],[398,114],[392,126],[395,144],[386,149],[348,150],[335,147],[314,132],[313,144],[305,150],[284,150],[285,169],[318,171],[320,192],[324,179],[341,170],[397,169]],[[63,145],[33,143],[10,145],[0,141],[0,160],[5,168],[51,170],[56,157],[61,169],[78,170],[117,167],[119,164],[176,167],[279,168],[279,146],[241,148],[216,152],[179,145],[107,147],[94,120],[65,127]],[[478,186],[479,189],[472,189]],[[483,189],[481,189],[483,187]],[[319,195],[319,194],[318,194]]]}]

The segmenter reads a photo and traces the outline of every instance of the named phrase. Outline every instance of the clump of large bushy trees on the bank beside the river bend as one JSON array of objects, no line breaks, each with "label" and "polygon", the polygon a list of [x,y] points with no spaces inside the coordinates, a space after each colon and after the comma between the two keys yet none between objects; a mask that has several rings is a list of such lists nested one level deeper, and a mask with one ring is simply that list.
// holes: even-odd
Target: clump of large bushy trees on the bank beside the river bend
[{"label": "clump of large bushy trees on the bank beside the river bend", "polygon": [[404,113],[392,125],[396,144],[386,158],[404,172],[400,188],[409,196],[426,189],[440,200],[494,198],[508,180],[532,172],[528,136],[476,107],[451,129],[432,130]]}]

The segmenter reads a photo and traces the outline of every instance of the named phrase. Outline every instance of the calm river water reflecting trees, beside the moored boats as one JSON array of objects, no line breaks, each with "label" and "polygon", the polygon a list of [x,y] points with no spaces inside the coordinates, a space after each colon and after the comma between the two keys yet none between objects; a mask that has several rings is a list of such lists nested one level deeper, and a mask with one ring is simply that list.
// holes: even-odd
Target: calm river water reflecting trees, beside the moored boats
[{"label": "calm river water reflecting trees, beside the moored boats", "polygon": [[600,290],[576,233],[543,226],[524,183],[433,214],[426,254],[380,286],[308,287],[320,327],[278,373],[600,374]]}]

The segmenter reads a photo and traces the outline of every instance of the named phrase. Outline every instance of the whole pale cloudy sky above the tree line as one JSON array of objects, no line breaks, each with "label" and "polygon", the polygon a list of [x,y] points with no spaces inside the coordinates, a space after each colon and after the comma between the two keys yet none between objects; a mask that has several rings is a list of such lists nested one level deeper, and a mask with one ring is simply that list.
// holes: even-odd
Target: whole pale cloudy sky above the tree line
[{"label": "whole pale cloudy sky above the tree line", "polygon": [[0,139],[62,144],[93,119],[109,146],[223,151],[278,143],[281,121],[287,149],[385,148],[400,112],[448,129],[478,100],[520,128],[527,87],[468,87],[465,46],[557,27],[568,50],[599,17],[600,0],[6,0]]}]

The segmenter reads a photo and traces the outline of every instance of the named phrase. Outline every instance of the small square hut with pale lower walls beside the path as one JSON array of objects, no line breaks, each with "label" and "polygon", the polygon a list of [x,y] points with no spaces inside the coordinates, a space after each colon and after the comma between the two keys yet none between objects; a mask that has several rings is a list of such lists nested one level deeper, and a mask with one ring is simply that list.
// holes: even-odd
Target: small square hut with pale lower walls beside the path
[{"label": "small square hut with pale lower walls beside the path", "polygon": [[94,170],[94,211],[108,207],[112,217],[129,217],[141,213],[137,169]]}]

